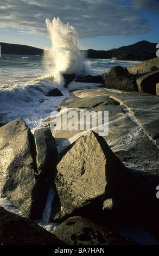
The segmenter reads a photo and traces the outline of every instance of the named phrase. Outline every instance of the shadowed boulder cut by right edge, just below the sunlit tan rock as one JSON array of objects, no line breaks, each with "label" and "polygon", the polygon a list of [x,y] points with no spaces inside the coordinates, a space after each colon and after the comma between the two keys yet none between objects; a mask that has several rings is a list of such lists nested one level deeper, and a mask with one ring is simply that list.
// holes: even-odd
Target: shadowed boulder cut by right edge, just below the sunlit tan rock
[{"label": "shadowed boulder cut by right edge, just below the sunlit tan rock", "polygon": [[136,76],[138,92],[156,94],[156,83],[159,82],[159,70]]}]

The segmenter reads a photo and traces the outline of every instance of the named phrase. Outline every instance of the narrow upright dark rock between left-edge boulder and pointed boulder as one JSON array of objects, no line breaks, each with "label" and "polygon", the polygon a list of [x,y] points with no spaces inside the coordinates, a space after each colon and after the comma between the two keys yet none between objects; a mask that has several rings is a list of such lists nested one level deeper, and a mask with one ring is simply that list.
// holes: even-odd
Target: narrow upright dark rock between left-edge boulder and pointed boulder
[{"label": "narrow upright dark rock between left-edge boulder and pointed boulder", "polygon": [[35,130],[37,172],[44,178],[53,175],[53,170],[59,162],[58,149],[52,132],[48,128]]}]

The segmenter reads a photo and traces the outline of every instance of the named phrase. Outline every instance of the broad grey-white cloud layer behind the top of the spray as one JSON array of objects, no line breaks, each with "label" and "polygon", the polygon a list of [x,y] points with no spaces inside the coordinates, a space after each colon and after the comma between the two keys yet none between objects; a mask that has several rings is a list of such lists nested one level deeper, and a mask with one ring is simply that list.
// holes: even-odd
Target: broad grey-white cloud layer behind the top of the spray
[{"label": "broad grey-white cloud layer behind the top of the spray", "polygon": [[[77,30],[80,39],[96,36],[138,35],[151,32],[152,22],[143,20],[138,9],[152,0],[5,0],[1,3],[1,28],[21,29],[22,33],[48,35],[46,18],[60,18]],[[154,1],[159,3],[159,1]],[[124,4],[125,3],[125,4]],[[139,4],[141,3],[141,4]]]}]

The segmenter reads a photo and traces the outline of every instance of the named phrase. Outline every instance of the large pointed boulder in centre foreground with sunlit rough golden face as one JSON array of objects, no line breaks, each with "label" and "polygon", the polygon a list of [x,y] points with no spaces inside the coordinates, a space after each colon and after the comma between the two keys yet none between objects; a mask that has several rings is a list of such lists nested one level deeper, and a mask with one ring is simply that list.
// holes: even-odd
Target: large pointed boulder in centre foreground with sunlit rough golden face
[{"label": "large pointed boulder in centre foreground with sunlit rough golden face", "polygon": [[[73,212],[102,211],[104,198],[135,198],[137,184],[113,154],[105,139],[93,131],[80,137],[57,166],[54,181],[61,217]],[[87,208],[87,210],[86,210]],[[85,209],[85,210],[83,210]],[[54,209],[53,209],[54,210]],[[52,212],[52,220],[56,219]]]}]

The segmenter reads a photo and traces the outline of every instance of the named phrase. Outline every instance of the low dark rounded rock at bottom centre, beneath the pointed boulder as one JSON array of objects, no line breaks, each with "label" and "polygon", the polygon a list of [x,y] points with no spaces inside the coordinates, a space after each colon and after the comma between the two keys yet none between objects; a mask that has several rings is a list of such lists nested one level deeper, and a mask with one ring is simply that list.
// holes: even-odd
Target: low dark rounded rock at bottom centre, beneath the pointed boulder
[{"label": "low dark rounded rock at bottom centre, beneath the pointed boulder", "polygon": [[135,241],[121,236],[99,224],[75,216],[68,218],[55,229],[54,234],[68,245],[137,245]]}]

